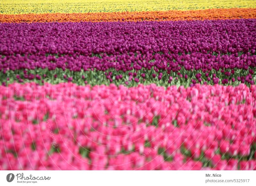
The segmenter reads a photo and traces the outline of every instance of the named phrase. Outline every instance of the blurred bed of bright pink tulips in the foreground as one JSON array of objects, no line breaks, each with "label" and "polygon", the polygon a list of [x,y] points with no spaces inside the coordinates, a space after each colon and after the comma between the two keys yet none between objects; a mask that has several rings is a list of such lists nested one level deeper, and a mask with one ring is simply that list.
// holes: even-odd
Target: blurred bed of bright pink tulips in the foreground
[{"label": "blurred bed of bright pink tulips in the foreground", "polygon": [[0,167],[256,169],[256,86],[0,88]]}]

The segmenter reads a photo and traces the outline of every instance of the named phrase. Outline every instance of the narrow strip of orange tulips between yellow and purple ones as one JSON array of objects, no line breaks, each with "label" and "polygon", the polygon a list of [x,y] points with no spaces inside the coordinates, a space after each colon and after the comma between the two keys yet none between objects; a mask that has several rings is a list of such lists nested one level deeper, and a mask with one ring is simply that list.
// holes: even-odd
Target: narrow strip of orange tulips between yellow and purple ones
[{"label": "narrow strip of orange tulips between yellow and purple ones", "polygon": [[208,9],[191,11],[152,12],[98,12],[98,13],[44,13],[0,14],[0,22],[80,22],[80,21],[163,21],[163,20],[215,20],[256,18],[256,8]]}]

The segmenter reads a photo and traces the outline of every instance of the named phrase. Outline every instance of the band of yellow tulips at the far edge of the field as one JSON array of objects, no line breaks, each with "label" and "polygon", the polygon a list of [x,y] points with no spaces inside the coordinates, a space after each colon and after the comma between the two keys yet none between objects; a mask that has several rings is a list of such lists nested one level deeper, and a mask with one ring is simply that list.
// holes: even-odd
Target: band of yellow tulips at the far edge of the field
[{"label": "band of yellow tulips at the far edge of the field", "polygon": [[85,13],[256,8],[256,0],[4,0],[1,14]]}]

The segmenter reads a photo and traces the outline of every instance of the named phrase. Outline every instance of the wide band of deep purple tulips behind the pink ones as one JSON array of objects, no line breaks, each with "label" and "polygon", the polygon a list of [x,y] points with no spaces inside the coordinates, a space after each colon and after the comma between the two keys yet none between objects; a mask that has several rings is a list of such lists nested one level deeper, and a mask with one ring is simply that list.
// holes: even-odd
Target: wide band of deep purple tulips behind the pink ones
[{"label": "wide band of deep purple tulips behind the pink ones", "polygon": [[100,71],[112,82],[112,74],[151,70],[153,82],[163,77],[165,82],[183,78],[193,84],[255,81],[254,19],[2,24],[0,33],[6,35],[0,67],[4,74],[60,68]]}]

